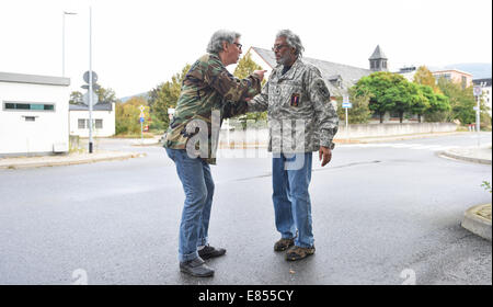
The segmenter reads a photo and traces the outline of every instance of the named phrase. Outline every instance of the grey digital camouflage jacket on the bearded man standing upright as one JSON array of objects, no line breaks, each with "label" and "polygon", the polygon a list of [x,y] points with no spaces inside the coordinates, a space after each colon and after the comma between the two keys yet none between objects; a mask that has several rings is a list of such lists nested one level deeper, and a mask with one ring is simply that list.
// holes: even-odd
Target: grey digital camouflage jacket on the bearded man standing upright
[{"label": "grey digital camouflage jacket on the bearded man standing upright", "polygon": [[339,117],[320,70],[298,58],[282,75],[275,67],[262,93],[249,101],[248,112],[267,110],[273,152],[310,152],[320,146],[331,148]]}]

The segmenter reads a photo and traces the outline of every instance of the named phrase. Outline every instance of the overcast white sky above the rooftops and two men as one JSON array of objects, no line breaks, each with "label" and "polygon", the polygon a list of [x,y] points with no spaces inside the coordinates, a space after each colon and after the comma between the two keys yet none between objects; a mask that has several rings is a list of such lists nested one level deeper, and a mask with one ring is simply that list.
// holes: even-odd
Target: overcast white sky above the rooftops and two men
[{"label": "overcast white sky above the rooftops and two men", "polygon": [[491,0],[0,0],[0,71],[61,76],[81,90],[89,69],[89,7],[99,82],[122,98],[149,91],[193,64],[218,29],[270,48],[282,29],[305,56],[368,68],[377,44],[390,70],[410,65],[491,62]]}]

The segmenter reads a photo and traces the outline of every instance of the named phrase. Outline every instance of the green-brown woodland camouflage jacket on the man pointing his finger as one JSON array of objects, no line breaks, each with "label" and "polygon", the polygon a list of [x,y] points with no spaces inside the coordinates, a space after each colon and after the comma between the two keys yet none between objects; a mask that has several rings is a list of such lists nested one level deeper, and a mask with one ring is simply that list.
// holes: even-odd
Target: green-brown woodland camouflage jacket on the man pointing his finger
[{"label": "green-brown woodland camouflage jacket on the man pointing his finger", "polygon": [[[164,147],[187,149],[192,140],[192,147],[200,148],[200,154],[195,151],[195,156],[215,164],[222,120],[245,113],[244,100],[260,91],[261,80],[256,76],[240,80],[226,69],[218,55],[202,56],[185,75],[175,113],[164,135]],[[197,137],[204,136],[206,127],[205,147],[199,146]],[[204,138],[202,140],[205,143]]]}]

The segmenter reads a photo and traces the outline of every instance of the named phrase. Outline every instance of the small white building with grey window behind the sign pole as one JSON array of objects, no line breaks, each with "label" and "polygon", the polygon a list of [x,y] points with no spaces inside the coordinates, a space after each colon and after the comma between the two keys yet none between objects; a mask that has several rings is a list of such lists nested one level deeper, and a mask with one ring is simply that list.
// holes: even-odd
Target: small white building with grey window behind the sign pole
[{"label": "small white building with grey window behind the sign pole", "polygon": [[[115,135],[115,103],[96,103],[92,109],[92,136]],[[70,104],[70,135],[89,137],[89,106]]]}]

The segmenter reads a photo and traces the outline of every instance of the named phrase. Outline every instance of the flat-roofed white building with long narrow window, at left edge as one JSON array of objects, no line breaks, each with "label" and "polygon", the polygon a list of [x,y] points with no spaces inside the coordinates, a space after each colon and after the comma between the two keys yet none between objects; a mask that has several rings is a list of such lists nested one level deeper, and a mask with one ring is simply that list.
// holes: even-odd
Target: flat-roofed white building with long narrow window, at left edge
[{"label": "flat-roofed white building with long narrow window, at left edge", "polygon": [[70,79],[0,72],[0,156],[69,150]]}]

